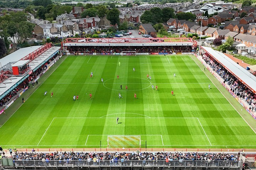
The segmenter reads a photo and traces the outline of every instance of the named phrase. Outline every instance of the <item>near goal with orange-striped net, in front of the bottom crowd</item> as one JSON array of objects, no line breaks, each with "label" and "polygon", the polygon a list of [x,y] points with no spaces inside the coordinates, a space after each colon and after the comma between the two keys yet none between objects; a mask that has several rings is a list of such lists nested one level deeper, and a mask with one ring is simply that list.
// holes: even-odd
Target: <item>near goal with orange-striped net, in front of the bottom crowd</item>
[{"label": "near goal with orange-striped net, in front of the bottom crowd", "polygon": [[140,147],[140,136],[108,136],[108,147]]}]

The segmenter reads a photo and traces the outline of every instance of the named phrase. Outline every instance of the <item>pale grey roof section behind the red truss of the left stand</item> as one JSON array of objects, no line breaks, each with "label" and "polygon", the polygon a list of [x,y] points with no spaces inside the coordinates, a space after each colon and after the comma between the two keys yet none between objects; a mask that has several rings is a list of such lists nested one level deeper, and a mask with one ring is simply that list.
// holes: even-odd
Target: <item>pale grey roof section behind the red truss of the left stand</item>
[{"label": "pale grey roof section behind the red truss of the left stand", "polygon": [[1,67],[5,66],[9,62],[17,62],[17,61],[21,60],[21,58],[25,57],[26,55],[35,51],[36,49],[38,49],[41,46],[42,45],[37,45],[37,46],[31,46],[31,47],[26,47],[26,48],[23,48],[23,49],[19,49],[15,52],[5,56],[4,58],[1,58],[0,59]]}]

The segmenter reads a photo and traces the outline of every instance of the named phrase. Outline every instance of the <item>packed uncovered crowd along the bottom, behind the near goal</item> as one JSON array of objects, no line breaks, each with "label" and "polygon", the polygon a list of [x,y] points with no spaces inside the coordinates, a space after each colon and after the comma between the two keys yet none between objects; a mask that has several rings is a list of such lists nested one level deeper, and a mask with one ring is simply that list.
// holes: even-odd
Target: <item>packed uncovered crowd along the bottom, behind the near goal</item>
[{"label": "packed uncovered crowd along the bottom, behind the near goal", "polygon": [[198,152],[115,152],[115,153],[96,153],[96,152],[54,152],[54,153],[35,153],[35,152],[14,152],[13,160],[238,160],[239,155],[228,153],[198,153]]}]

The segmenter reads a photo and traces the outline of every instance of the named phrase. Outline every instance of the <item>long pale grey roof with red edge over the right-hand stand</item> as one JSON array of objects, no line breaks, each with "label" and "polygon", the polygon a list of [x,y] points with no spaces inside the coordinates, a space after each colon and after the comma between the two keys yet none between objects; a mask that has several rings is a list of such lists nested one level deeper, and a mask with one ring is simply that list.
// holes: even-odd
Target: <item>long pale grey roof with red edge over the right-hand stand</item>
[{"label": "long pale grey roof with red edge over the right-hand stand", "polygon": [[254,93],[256,93],[256,77],[250,72],[245,70],[239,64],[231,60],[228,56],[222,52],[213,50],[210,47],[203,47],[207,53],[218,61],[222,66],[227,69],[231,74],[235,75],[243,84],[249,87]]}]

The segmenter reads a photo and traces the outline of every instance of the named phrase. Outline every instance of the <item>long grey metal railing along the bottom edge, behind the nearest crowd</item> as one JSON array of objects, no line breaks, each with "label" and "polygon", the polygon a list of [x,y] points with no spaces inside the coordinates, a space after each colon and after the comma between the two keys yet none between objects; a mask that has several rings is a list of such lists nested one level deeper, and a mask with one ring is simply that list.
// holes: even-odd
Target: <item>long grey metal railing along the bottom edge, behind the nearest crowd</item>
[{"label": "long grey metal railing along the bottom edge, behind the nearest crowd", "polygon": [[205,161],[205,160],[12,160],[3,158],[3,166],[13,167],[61,167],[61,166],[166,166],[166,167],[223,167],[238,168],[240,161]]}]

